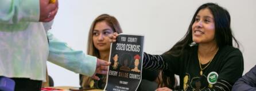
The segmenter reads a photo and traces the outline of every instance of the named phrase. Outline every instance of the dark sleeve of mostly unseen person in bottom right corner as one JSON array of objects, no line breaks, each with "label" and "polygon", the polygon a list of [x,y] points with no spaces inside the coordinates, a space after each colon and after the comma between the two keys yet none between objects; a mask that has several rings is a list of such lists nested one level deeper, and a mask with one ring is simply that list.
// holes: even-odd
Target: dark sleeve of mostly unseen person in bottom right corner
[{"label": "dark sleeve of mostly unseen person in bottom right corner", "polygon": [[256,90],[256,65],[235,82],[233,91]]}]

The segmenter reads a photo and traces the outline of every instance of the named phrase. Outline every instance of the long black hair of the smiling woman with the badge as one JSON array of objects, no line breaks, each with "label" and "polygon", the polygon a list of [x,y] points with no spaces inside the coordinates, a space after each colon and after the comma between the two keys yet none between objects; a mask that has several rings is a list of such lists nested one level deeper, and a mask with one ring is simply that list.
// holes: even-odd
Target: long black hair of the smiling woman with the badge
[{"label": "long black hair of the smiling woman with the badge", "polygon": [[209,9],[214,16],[215,21],[215,40],[217,46],[219,48],[223,46],[233,46],[232,39],[234,39],[236,47],[239,48],[238,41],[232,35],[232,31],[230,28],[230,14],[223,7],[215,4],[215,3],[205,3],[201,5],[196,13],[193,15],[191,23],[189,24],[187,33],[183,36],[183,38],[177,42],[169,51],[165,53],[169,53],[173,56],[180,56],[191,48],[192,40],[192,25],[195,22],[195,18],[197,13],[199,13],[202,9]]}]

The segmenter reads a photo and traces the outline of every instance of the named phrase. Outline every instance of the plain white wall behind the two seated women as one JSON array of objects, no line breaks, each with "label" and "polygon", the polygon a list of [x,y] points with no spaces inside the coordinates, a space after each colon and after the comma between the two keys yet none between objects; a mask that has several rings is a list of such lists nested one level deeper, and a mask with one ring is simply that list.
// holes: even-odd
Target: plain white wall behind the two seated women
[{"label": "plain white wall behind the two seated women", "polygon": [[[76,50],[86,51],[88,30],[96,16],[114,15],[124,32],[145,35],[145,52],[161,54],[174,45],[187,31],[197,7],[210,1],[170,0],[60,0],[52,32]],[[241,43],[245,72],[256,64],[256,1],[212,1],[231,14],[231,27]],[[48,63],[55,86],[79,86],[79,76]]]}]

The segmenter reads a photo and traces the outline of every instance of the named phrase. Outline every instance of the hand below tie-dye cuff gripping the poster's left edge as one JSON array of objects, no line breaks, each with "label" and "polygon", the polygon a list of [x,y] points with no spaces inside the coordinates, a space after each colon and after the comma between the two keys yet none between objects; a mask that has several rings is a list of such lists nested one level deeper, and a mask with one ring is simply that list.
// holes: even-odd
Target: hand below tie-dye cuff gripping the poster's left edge
[{"label": "hand below tie-dye cuff gripping the poster's left edge", "polygon": [[99,80],[99,77],[96,76],[96,74],[107,75],[107,68],[109,65],[110,65],[110,62],[97,59],[96,71],[94,75],[92,75],[92,78],[95,80]]}]

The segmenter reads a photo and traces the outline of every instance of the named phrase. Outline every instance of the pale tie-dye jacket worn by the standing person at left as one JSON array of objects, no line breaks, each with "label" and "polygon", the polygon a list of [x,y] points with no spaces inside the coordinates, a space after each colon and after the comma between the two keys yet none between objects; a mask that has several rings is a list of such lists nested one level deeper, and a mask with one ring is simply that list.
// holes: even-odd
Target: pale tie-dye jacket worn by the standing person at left
[{"label": "pale tie-dye jacket worn by the standing person at left", "polygon": [[96,57],[74,51],[47,32],[38,22],[39,3],[39,0],[0,1],[0,76],[45,81],[46,60],[92,76]]}]

